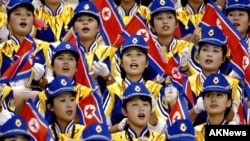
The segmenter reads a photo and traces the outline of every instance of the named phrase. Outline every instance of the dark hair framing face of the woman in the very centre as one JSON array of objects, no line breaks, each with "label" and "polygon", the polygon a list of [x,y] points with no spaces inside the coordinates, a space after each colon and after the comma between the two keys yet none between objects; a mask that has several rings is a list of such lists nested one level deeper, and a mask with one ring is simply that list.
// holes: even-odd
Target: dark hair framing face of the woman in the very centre
[{"label": "dark hair framing face of the woman in the very centre", "polygon": [[[129,47],[128,47],[128,48],[125,48],[125,49],[122,51],[122,53],[121,53],[121,55],[120,55],[120,59],[122,58],[124,52],[125,52],[127,49],[129,49]],[[142,49],[142,48],[139,48],[139,49],[146,55],[146,60],[148,60],[147,51],[146,51],[145,49]],[[126,78],[126,72],[125,72],[125,70],[123,69],[123,67],[121,67],[121,65],[120,65],[120,70],[121,70],[121,78],[124,80],[124,79]],[[146,81],[146,80],[150,80],[150,78],[149,78],[149,68],[145,68],[145,69],[144,69],[144,71],[143,71],[143,73],[142,73],[142,77],[143,77],[143,79],[144,79],[145,81]]]}]

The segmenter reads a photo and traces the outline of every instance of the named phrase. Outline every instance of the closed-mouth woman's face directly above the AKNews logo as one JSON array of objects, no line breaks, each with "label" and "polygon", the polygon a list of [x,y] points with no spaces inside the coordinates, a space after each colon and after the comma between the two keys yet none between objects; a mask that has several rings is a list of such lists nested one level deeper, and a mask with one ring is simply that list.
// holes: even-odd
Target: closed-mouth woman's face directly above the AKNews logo
[{"label": "closed-mouth woman's face directly above the AKNews logo", "polygon": [[209,115],[224,115],[227,107],[231,106],[231,99],[226,93],[209,92],[204,96],[204,108]]}]

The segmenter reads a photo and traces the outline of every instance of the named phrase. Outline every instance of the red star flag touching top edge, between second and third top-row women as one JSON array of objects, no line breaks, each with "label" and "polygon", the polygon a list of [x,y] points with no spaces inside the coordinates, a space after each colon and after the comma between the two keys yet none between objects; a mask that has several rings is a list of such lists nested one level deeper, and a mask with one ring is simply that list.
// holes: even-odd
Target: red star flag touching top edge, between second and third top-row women
[{"label": "red star flag touching top edge, between second and third top-row women", "polygon": [[112,0],[96,0],[94,5],[100,11],[103,32],[108,35],[109,45],[118,47],[117,40],[125,25]]}]

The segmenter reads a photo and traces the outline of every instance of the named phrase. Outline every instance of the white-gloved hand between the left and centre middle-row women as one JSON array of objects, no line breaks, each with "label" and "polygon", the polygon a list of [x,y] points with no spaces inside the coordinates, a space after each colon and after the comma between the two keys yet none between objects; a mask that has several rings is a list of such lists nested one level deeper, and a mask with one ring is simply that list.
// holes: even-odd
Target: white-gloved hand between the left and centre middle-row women
[{"label": "white-gloved hand between the left and centre middle-row women", "polygon": [[92,68],[94,70],[94,74],[99,75],[101,77],[108,76],[109,74],[108,66],[103,62],[94,61]]}]

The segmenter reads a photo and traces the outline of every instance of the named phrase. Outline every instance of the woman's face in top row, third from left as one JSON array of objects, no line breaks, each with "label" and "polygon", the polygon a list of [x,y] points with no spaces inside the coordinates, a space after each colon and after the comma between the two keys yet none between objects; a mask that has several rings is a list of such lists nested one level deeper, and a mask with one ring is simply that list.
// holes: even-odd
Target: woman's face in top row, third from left
[{"label": "woman's face in top row, third from left", "polygon": [[158,37],[173,36],[177,27],[176,17],[172,12],[161,12],[153,18],[152,30]]}]

